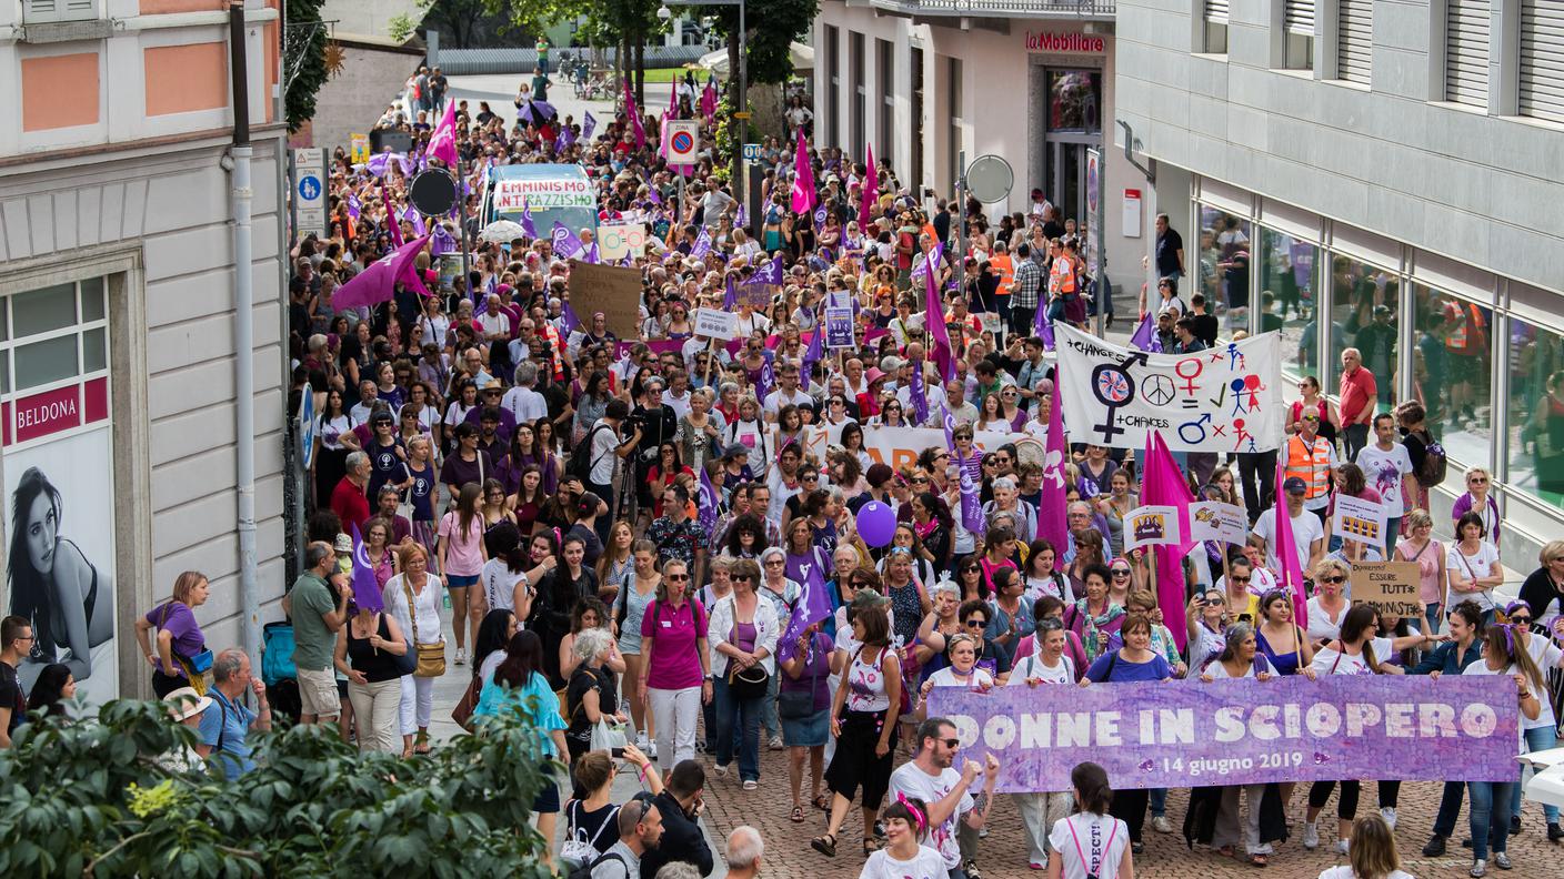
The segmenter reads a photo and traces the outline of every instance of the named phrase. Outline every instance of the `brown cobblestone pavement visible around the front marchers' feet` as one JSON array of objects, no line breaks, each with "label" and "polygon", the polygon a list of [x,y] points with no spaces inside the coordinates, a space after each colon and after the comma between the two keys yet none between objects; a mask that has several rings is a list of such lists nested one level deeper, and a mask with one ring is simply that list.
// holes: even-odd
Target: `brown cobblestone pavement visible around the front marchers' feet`
[{"label": "brown cobblestone pavement visible around the front marchers' feet", "polygon": [[[904,757],[906,754],[902,754]],[[710,768],[708,757],[702,757]],[[901,760],[898,760],[899,765]],[[1150,879],[1184,879],[1198,876],[1203,879],[1265,876],[1270,879],[1315,879],[1322,870],[1347,863],[1345,857],[1336,854],[1336,801],[1326,805],[1320,815],[1320,848],[1306,851],[1298,841],[1303,827],[1304,796],[1308,790],[1300,785],[1293,791],[1292,804],[1287,809],[1289,821],[1293,823],[1292,838],[1278,846],[1270,857],[1270,866],[1257,870],[1248,863],[1240,863],[1231,857],[1221,857],[1209,849],[1189,851],[1179,827],[1184,821],[1184,805],[1189,801],[1186,791],[1171,791],[1168,796],[1168,820],[1173,821],[1173,834],[1157,834],[1146,823],[1146,851],[1135,857],[1135,876]],[[1437,876],[1465,876],[1472,866],[1472,852],[1461,848],[1459,840],[1467,835],[1467,813],[1462,809],[1456,821],[1456,838],[1450,840],[1444,857],[1428,859],[1422,856],[1423,843],[1428,841],[1429,829],[1434,824],[1434,812],[1439,809],[1439,782],[1408,782],[1401,785],[1400,804],[1397,807],[1395,838],[1401,851],[1401,868],[1417,879]],[[826,831],[826,813],[807,805],[809,776],[804,777],[804,823],[795,824],[788,820],[791,812],[791,795],[788,793],[787,757],[782,751],[762,751],[760,757],[760,788],[744,791],[735,777],[718,779],[715,773],[707,774],[705,802],[710,834],[724,838],[738,824],[751,824],[760,829],[766,840],[766,873],[769,876],[787,877],[856,877],[863,866],[860,820],[854,809],[843,824],[837,857],[827,859],[809,848],[809,840]],[[1375,787],[1365,784],[1362,804],[1359,809],[1378,807]],[[1489,876],[1545,877],[1564,876],[1561,859],[1564,846],[1550,845],[1547,827],[1542,821],[1542,807],[1536,802],[1523,805],[1523,829],[1519,837],[1509,840],[1509,857],[1516,868],[1509,873],[1495,870],[1489,862]],[[1010,879],[1023,876],[1042,876],[1026,866],[1026,840],[1021,835],[1020,815],[1009,796],[999,796],[988,816],[990,834],[979,845],[978,865],[984,879]]]}]

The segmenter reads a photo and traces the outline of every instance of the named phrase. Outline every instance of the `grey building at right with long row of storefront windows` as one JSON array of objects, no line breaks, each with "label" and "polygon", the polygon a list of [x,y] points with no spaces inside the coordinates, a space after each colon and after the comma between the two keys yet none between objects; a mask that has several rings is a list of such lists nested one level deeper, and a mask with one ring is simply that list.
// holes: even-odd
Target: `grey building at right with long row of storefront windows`
[{"label": "grey building at right with long row of storefront windows", "polygon": [[1189,283],[1329,394],[1362,349],[1448,452],[1440,530],[1486,468],[1522,572],[1564,524],[1561,33],[1550,0],[1118,5],[1117,113]]}]

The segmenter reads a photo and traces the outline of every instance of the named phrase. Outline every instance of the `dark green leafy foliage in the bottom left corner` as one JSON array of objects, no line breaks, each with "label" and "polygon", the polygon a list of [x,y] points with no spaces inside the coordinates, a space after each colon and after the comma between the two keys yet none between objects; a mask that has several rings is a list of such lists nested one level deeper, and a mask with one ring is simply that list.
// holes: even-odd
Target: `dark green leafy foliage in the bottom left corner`
[{"label": "dark green leafy foliage in the bottom left corner", "polygon": [[549,877],[527,820],[557,763],[516,718],[411,760],[324,726],[250,740],[258,768],[228,782],[158,765],[196,741],[160,702],[34,716],[0,752],[0,876]]}]

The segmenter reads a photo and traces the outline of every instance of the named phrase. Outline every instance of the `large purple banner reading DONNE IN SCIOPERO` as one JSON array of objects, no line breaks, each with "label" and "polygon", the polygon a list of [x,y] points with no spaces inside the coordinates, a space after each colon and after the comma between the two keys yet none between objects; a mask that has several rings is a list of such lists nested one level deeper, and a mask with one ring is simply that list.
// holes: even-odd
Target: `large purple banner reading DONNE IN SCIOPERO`
[{"label": "large purple banner reading DONNE IN SCIOPERO", "polygon": [[1070,790],[1099,763],[1115,790],[1337,779],[1503,780],[1520,776],[1516,682],[1301,676],[1200,683],[935,687],[959,759],[1003,766],[1001,793]]}]

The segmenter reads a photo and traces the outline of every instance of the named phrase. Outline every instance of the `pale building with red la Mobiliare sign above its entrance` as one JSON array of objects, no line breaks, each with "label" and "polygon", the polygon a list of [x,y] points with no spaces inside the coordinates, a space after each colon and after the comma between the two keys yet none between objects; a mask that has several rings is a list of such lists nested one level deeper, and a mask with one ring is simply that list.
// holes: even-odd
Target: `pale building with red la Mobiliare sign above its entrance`
[{"label": "pale building with red la Mobiliare sign above its entrance", "polygon": [[[1087,149],[1104,149],[1104,255],[1120,303],[1140,285],[1143,178],[1112,149],[1112,2],[823,0],[813,28],[815,142],[949,199],[959,160],[1004,158],[1015,183],[990,219],[1031,191],[1084,224]],[[1104,147],[1106,144],[1106,147]]]}]

